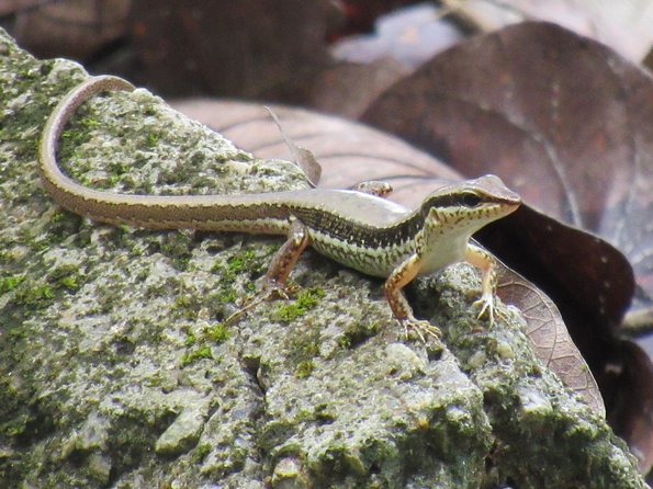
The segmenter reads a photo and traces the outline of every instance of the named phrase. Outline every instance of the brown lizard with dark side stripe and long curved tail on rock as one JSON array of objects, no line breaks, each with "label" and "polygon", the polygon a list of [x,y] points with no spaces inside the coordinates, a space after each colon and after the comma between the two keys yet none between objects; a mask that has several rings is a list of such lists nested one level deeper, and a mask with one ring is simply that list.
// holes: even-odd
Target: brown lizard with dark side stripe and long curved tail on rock
[{"label": "brown lizard with dark side stripe and long curved tail on rock", "polygon": [[405,328],[436,338],[440,330],[413,315],[402,293],[415,276],[468,261],[482,270],[479,317],[494,318],[495,261],[471,236],[520,205],[499,178],[481,177],[444,186],[415,211],[372,193],[309,189],[245,195],[127,195],[91,190],[65,175],[56,160],[64,126],[87,99],[104,90],[134,90],[116,77],[94,77],[74,88],[52,112],[41,139],[43,185],[63,207],[110,224],[150,229],[192,228],[286,236],[266,275],[266,287],[283,289],[304,249],[312,246],[347,266],[386,277],[384,292]]}]

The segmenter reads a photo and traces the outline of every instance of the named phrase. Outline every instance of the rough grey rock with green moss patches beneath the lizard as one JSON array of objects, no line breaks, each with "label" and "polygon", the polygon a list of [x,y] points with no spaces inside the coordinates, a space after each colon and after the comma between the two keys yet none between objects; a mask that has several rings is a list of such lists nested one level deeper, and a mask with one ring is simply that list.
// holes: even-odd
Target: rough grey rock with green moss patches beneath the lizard
[{"label": "rough grey rock with green moss patches beneath the lizard", "polygon": [[[61,211],[37,139],[85,76],[0,32],[0,487],[644,487],[623,443],[536,360],[517,311],[475,331],[466,265],[415,287],[442,348],[403,340],[379,281],[314,252],[296,299],[225,330],[279,239]],[[143,90],[85,104],[59,156],[120,192],[306,186]]]}]

